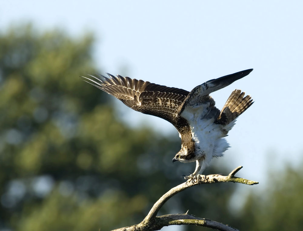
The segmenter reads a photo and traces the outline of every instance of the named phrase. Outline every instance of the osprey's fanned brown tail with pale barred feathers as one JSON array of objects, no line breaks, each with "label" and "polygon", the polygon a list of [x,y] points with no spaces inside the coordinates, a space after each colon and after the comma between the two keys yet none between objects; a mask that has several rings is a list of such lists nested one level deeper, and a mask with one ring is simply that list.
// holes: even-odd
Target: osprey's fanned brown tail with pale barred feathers
[{"label": "osprey's fanned brown tail with pale barred feathers", "polygon": [[216,124],[227,125],[241,115],[248,107],[253,104],[253,100],[250,95],[245,96],[245,92],[241,90],[235,90],[231,92],[225,105],[223,106]]}]

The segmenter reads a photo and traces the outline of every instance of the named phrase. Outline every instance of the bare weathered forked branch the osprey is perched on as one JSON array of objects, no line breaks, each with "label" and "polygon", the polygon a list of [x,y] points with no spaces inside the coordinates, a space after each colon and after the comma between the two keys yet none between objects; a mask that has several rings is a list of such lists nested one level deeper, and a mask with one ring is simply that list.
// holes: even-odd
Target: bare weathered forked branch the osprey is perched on
[{"label": "bare weathered forked branch the osprey is perched on", "polygon": [[210,183],[217,183],[217,182],[234,182],[234,183],[242,183],[242,184],[258,184],[256,181],[246,180],[240,177],[235,177],[235,174],[242,168],[239,166],[231,171],[228,176],[222,176],[220,174],[212,174],[205,176],[205,180],[202,182],[191,182],[187,181],[184,182],[171,190],[165,193],[161,198],[154,204],[154,206],[149,211],[148,215],[144,218],[144,220],[133,226],[128,226],[120,229],[115,229],[115,231],[152,231],[152,230],[159,230],[164,226],[169,225],[198,225],[198,226],[205,226],[212,229],[217,230],[227,230],[227,231],[235,231],[235,229],[231,226],[224,225],[222,223],[211,221],[209,219],[200,218],[188,213],[184,214],[168,214],[163,216],[157,216],[158,211],[163,206],[163,204],[175,194],[195,185],[200,184],[210,184]]}]

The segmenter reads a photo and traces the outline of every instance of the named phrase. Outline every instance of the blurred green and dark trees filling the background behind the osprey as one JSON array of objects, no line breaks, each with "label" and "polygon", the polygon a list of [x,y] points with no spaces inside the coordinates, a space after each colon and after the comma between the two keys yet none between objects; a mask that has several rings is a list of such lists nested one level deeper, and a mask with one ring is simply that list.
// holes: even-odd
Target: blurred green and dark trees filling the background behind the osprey
[{"label": "blurred green and dark trees filling the background behind the osprey", "polygon": [[[194,163],[172,165],[180,149],[178,137],[128,127],[115,111],[113,97],[81,81],[79,75],[104,72],[92,58],[93,44],[91,34],[72,38],[30,25],[0,35],[2,230],[133,225],[194,169]],[[229,170],[209,168],[205,173],[218,172]],[[243,230],[299,230],[302,171],[280,174],[265,192],[251,194],[240,213],[228,204],[242,186],[224,183],[179,193],[160,213],[189,209]]]}]

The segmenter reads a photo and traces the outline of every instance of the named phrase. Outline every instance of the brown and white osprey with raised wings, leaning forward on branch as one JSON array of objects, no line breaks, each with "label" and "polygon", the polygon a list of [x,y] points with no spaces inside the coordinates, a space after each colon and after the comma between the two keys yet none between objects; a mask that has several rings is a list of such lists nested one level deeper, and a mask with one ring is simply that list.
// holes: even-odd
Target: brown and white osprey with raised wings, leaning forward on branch
[{"label": "brown and white osprey with raised wings, leaning forward on branch", "polygon": [[236,89],[220,111],[209,94],[243,78],[252,70],[206,81],[190,92],[120,75],[115,77],[108,74],[109,78],[99,74],[82,77],[135,111],[163,118],[173,124],[181,138],[181,150],[172,161],[196,161],[195,171],[185,176],[185,179],[194,182],[205,177],[199,173],[208,167],[213,157],[224,155],[223,152],[230,147],[224,137],[235,125],[236,118],[253,104],[250,95],[245,96],[245,92]]}]

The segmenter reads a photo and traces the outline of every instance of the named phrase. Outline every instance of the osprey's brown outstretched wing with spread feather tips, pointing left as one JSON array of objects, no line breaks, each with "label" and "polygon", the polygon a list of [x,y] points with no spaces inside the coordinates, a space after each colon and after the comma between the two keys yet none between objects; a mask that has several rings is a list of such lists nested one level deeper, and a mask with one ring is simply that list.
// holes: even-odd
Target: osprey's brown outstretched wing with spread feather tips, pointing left
[{"label": "osprey's brown outstretched wing with spread feather tips, pointing left", "polygon": [[109,78],[96,74],[82,77],[135,111],[163,118],[177,127],[178,113],[189,94],[188,91],[120,75],[108,76]]}]

